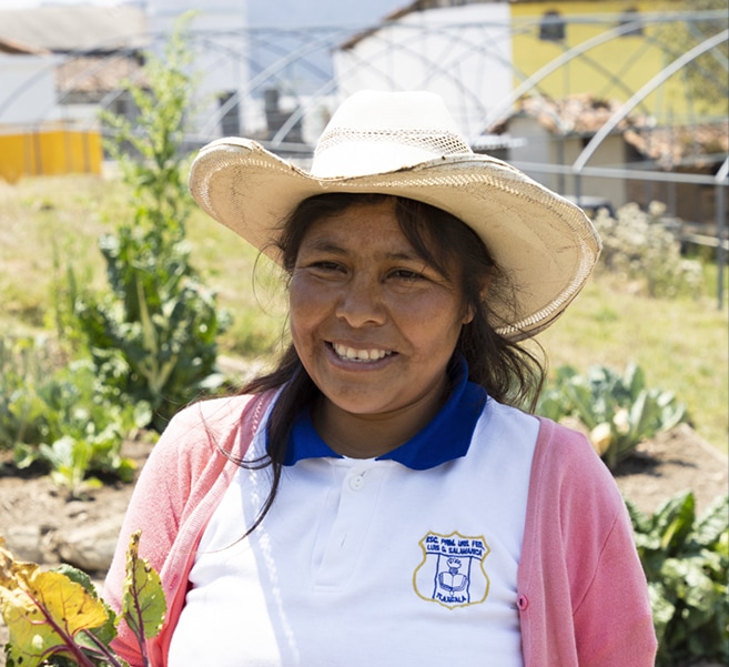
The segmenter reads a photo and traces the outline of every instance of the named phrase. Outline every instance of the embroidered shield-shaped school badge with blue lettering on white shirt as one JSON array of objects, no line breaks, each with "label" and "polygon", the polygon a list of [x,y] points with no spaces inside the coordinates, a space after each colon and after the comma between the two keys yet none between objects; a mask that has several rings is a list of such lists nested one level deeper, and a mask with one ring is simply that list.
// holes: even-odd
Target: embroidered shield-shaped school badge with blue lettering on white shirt
[{"label": "embroidered shield-shaped school badge with blue lettering on white shirt", "polygon": [[418,596],[450,609],[486,599],[489,582],[484,559],[490,549],[483,537],[428,533],[419,544],[423,562],[413,574]]}]

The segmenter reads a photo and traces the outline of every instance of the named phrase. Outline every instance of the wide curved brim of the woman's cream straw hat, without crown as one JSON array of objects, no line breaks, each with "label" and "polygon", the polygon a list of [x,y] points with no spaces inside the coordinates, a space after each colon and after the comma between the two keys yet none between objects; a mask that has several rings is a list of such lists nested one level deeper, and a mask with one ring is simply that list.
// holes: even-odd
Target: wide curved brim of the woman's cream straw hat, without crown
[{"label": "wide curved brim of the woman's cream straw hat, without crown", "polygon": [[316,178],[242,138],[204,146],[190,191],[217,222],[281,263],[272,241],[305,199],[334,192],[385,193],[422,201],[455,215],[484,241],[504,272],[494,285],[512,300],[489,303],[496,331],[510,340],[551,324],[579,293],[600,241],[575,204],[488,155],[454,155],[397,171]]}]

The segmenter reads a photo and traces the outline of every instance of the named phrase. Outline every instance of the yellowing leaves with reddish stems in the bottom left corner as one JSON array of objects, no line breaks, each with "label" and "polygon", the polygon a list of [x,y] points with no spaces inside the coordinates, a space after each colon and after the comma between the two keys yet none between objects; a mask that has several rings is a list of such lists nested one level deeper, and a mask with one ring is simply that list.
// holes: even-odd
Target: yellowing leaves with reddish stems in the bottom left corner
[{"label": "yellowing leaves with reddish stems in the bottom left corner", "polygon": [[14,560],[0,537],[0,613],[10,630],[8,667],[122,667],[110,648],[123,619],[143,658],[146,640],[162,627],[166,603],[159,575],[139,557],[140,533],[131,536],[122,609],[117,616],[94,590],[89,576],[73,567],[42,572]]}]

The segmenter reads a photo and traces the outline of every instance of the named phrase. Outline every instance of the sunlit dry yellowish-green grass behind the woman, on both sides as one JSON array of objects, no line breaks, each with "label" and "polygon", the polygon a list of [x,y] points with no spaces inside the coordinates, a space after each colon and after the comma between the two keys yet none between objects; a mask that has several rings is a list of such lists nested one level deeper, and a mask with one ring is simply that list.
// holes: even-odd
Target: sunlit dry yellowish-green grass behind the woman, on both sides
[{"label": "sunlit dry yellowish-green grass behind the woman, on both sides", "polygon": [[[112,231],[128,210],[123,186],[112,180],[28,179],[14,186],[0,182],[0,335],[52,327],[53,287],[67,264],[85,284],[104,287],[97,239]],[[233,315],[231,329],[220,338],[222,352],[270,356],[285,329],[277,271],[200,211],[188,230],[193,264]],[[551,368],[570,364],[584,372],[595,364],[639,364],[648,385],[672,391],[688,405],[699,435],[727,452],[729,326],[726,305],[717,306],[716,282],[716,269],[711,274],[708,265],[705,297],[667,301],[598,277],[538,340]]]}]

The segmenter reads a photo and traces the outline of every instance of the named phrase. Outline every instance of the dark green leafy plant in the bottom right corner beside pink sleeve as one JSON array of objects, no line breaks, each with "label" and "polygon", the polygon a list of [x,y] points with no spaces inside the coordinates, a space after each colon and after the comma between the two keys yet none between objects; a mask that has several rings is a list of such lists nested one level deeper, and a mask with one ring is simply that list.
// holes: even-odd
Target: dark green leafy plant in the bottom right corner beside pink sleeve
[{"label": "dark green leafy plant in the bottom right corner beside pink sleeve", "polygon": [[729,496],[696,518],[687,492],[647,516],[626,501],[648,579],[657,667],[729,660]]}]

